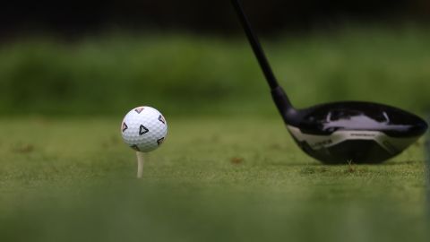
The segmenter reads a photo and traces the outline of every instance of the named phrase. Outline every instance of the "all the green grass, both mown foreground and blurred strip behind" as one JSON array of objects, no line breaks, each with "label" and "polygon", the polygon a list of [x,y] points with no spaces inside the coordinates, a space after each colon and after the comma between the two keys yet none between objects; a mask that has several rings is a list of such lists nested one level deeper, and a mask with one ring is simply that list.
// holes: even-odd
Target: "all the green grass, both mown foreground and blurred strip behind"
[{"label": "all the green grass, both mown foreground and blurred strip behind", "polygon": [[[361,99],[423,114],[429,41],[354,27],[262,42],[298,108]],[[162,110],[169,134],[137,180],[118,118],[140,105]],[[374,166],[305,156],[243,36],[3,42],[0,127],[2,242],[430,238],[424,142]]]}]

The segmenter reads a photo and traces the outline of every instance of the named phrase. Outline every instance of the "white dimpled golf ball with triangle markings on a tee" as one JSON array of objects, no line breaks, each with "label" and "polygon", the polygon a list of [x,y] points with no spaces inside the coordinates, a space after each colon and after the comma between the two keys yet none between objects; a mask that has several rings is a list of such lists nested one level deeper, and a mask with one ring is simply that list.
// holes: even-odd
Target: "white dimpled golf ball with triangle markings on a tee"
[{"label": "white dimpled golf ball with triangle markings on a tee", "polygon": [[149,152],[159,148],[166,139],[168,123],[155,108],[133,108],[124,117],[121,133],[133,150]]}]

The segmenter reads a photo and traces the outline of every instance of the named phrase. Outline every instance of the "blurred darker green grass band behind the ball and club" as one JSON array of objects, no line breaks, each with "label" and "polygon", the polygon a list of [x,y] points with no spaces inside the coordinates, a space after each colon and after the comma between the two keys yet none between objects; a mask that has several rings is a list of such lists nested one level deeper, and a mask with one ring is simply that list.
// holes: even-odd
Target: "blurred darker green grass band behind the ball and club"
[{"label": "blurred darker green grass band behind the ball and club", "polygon": [[[263,39],[297,107],[343,99],[423,112],[430,31],[346,28]],[[0,114],[123,115],[137,104],[186,112],[275,112],[245,36],[107,34],[0,45]]]}]

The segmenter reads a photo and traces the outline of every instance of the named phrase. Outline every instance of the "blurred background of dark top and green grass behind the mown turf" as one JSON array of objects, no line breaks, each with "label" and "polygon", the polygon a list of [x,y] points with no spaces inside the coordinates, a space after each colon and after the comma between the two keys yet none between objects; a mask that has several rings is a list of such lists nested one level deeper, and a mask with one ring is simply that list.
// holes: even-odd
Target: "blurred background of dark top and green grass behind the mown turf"
[{"label": "blurred background of dark top and green grass behind the mown turf", "polygon": [[[297,107],[362,99],[422,112],[430,2],[246,1]],[[0,116],[276,115],[228,0],[10,1]]]}]

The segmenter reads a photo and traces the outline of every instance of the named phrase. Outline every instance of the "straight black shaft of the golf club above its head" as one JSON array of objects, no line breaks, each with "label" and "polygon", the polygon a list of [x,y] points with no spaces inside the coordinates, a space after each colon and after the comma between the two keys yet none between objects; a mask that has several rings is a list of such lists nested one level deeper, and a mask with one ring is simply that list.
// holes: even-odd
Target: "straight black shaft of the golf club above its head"
[{"label": "straight black shaft of the golf club above its head", "polygon": [[269,83],[269,86],[271,86],[271,90],[279,87],[280,85],[271,70],[271,65],[269,65],[269,61],[267,60],[267,57],[265,56],[264,51],[262,50],[262,45],[260,44],[260,41],[258,40],[254,31],[252,30],[251,24],[246,18],[242,4],[240,4],[238,0],[231,0],[231,3],[235,7],[235,10],[237,15],[239,16],[240,22],[244,27],[246,37],[248,38],[251,44],[251,47],[254,50],[254,55],[258,59],[258,63],[262,67],[262,73],[264,73],[264,76],[266,77],[266,80]]}]

